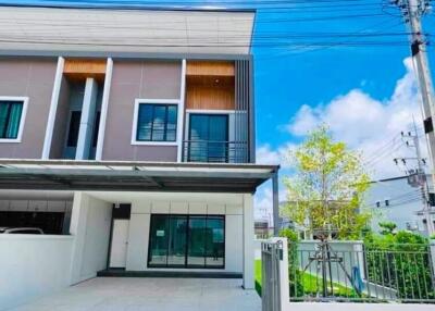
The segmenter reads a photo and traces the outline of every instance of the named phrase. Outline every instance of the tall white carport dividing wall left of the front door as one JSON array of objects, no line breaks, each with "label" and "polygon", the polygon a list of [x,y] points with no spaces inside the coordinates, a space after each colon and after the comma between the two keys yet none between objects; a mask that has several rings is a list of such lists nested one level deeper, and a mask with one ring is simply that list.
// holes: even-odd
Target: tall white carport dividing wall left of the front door
[{"label": "tall white carport dividing wall left of the front door", "polygon": [[107,268],[112,204],[75,192],[70,233],[75,237],[71,282],[95,277]]}]

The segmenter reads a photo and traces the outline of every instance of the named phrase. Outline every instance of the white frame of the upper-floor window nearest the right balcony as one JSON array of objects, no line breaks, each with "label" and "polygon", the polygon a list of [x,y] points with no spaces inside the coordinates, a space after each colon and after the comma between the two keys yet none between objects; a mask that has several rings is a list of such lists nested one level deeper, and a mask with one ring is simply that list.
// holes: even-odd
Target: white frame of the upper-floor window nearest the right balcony
[{"label": "white frame of the upper-floor window nearest the right balcony", "polygon": [[136,140],[137,122],[138,122],[138,116],[139,116],[139,104],[141,104],[141,103],[176,104],[177,105],[177,120],[179,117],[179,113],[183,113],[183,111],[179,111],[179,107],[181,107],[179,99],[136,98],[134,113],[133,113],[132,145],[135,145],[135,146],[178,146],[177,134],[178,134],[178,130],[182,130],[181,128],[178,128],[178,122],[176,124],[177,128],[176,128],[174,141],[139,141],[139,140]]}]

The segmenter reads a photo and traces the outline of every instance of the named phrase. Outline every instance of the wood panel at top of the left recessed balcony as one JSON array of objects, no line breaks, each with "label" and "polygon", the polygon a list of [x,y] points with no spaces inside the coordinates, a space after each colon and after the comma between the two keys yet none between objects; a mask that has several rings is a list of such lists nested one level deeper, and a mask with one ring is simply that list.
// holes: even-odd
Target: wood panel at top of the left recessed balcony
[{"label": "wood panel at top of the left recessed balcony", "polygon": [[101,82],[104,79],[105,64],[105,60],[66,59],[63,73],[70,80],[94,77]]}]

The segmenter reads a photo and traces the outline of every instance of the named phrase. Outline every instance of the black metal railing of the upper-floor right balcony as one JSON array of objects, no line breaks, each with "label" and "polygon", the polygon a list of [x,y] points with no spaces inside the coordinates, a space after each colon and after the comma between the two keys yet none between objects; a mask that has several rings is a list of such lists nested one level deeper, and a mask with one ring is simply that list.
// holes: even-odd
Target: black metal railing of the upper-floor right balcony
[{"label": "black metal railing of the upper-floor right balcony", "polygon": [[247,163],[246,141],[185,140],[184,162]]}]

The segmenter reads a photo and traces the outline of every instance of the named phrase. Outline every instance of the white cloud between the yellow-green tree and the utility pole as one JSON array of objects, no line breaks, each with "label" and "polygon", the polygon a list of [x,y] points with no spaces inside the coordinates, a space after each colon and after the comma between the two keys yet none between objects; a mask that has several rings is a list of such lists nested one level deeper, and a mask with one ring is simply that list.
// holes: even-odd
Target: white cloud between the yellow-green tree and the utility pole
[{"label": "white cloud between the yellow-green tree and the utility pole", "polygon": [[[413,150],[406,148],[398,135],[412,128],[413,116],[418,126],[422,124],[421,99],[411,59],[406,59],[403,64],[407,73],[396,83],[390,98],[378,100],[361,89],[351,89],[327,104],[301,107],[285,128],[293,136],[304,136],[319,124],[325,123],[335,139],[363,152],[373,177],[401,174],[399,170],[406,167],[397,167],[393,159],[409,157]],[[396,137],[395,141],[393,137]],[[422,142],[425,149],[424,139]],[[409,165],[408,169],[411,169],[413,163]]]}]

